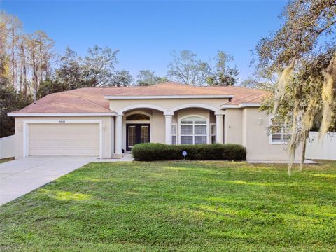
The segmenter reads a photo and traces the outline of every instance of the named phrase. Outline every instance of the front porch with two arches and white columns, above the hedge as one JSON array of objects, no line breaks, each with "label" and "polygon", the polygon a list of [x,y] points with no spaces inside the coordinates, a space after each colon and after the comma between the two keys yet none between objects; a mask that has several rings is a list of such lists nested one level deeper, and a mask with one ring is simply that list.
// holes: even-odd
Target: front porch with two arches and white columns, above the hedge
[{"label": "front porch with two arches and white columns, above the hedge", "polygon": [[139,106],[126,108],[116,116],[115,154],[122,158],[134,144],[224,143],[224,111],[204,106],[180,106],[171,111]]}]

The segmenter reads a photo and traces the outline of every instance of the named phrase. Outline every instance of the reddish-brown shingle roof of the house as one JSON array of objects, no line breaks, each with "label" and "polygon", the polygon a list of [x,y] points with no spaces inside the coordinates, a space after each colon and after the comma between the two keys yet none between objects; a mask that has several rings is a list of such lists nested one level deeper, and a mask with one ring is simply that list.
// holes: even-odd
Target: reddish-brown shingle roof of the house
[{"label": "reddish-brown shingle roof of the house", "polygon": [[111,113],[106,96],[233,95],[225,104],[258,103],[267,92],[246,87],[193,87],[180,83],[160,83],[148,87],[85,87],[48,94],[36,104],[13,113]]}]

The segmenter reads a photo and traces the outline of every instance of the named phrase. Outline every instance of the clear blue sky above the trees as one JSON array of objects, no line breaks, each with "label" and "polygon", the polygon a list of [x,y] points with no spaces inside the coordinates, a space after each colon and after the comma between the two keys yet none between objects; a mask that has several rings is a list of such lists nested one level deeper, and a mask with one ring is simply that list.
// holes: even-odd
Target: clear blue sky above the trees
[{"label": "clear blue sky above the trees", "polygon": [[167,73],[172,50],[191,50],[201,59],[223,50],[235,57],[239,78],[253,73],[251,50],[280,27],[286,1],[1,1],[27,33],[38,29],[84,55],[93,45],[119,49],[118,69],[132,75],[151,69]]}]

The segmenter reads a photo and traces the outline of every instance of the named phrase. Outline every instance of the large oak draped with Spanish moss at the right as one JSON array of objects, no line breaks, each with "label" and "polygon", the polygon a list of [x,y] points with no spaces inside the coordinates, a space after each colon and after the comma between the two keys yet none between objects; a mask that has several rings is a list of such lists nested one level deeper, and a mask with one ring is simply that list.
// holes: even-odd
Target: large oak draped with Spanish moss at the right
[{"label": "large oak draped with Spanish moss at the right", "polygon": [[[256,47],[258,71],[277,79],[276,90],[262,109],[291,125],[288,149],[293,160],[302,144],[302,169],[316,120],[321,135],[335,127],[336,0],[289,1],[281,18],[281,28]],[[291,164],[289,174],[290,169]]]}]

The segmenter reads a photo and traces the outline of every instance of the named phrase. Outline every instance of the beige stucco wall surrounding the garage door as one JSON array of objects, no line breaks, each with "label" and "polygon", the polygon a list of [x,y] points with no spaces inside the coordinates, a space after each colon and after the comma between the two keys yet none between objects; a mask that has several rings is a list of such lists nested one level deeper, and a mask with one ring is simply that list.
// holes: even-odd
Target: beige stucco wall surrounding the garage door
[{"label": "beige stucco wall surrounding the garage door", "polygon": [[112,116],[17,117],[15,118],[15,158],[23,156],[23,122],[29,120],[102,120],[102,158],[111,158],[114,153],[114,118]]}]

